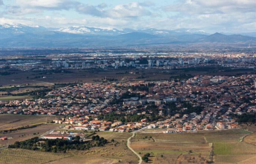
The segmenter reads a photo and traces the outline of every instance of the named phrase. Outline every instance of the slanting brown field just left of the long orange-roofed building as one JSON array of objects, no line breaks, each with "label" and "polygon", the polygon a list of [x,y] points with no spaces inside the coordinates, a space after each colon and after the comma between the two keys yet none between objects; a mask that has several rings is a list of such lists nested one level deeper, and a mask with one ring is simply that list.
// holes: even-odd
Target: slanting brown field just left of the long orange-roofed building
[{"label": "slanting brown field just left of the long orange-roofed building", "polygon": [[44,125],[37,126],[35,128],[22,129],[22,130],[8,132],[4,134],[0,133],[0,136],[12,137],[8,140],[0,141],[0,147],[8,144],[14,144],[15,141],[23,141],[29,138],[38,137],[44,134],[45,132],[49,130],[53,130],[59,126],[60,126],[59,124],[44,124]]}]

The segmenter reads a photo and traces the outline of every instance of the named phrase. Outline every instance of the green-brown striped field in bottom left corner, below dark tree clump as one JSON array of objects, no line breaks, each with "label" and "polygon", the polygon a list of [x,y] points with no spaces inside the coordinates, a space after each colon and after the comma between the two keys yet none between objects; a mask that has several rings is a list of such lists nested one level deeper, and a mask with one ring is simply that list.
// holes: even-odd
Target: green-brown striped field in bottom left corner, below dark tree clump
[{"label": "green-brown striped field in bottom left corner, below dark tree clump", "polygon": [[64,153],[47,153],[25,149],[0,150],[0,164],[42,164],[70,156]]}]

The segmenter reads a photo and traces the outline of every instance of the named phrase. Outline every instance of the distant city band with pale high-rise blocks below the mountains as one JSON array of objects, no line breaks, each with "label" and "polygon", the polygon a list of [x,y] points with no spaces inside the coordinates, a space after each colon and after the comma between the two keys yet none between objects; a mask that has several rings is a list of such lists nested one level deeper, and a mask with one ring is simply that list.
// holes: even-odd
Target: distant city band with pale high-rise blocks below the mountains
[{"label": "distant city band with pale high-rise blocks below the mountains", "polygon": [[[33,56],[28,56],[29,58]],[[36,57],[36,56],[35,56]],[[42,59],[25,60],[9,56],[0,60],[0,69],[56,70],[56,69],[174,69],[191,66],[217,65],[222,67],[255,68],[254,54],[241,53],[89,53],[50,54]]]}]

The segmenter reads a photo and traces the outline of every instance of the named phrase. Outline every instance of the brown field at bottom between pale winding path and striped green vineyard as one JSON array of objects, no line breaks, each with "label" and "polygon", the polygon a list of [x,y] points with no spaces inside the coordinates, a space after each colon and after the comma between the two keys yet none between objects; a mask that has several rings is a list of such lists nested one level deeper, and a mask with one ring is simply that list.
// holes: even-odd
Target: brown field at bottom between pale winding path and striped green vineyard
[{"label": "brown field at bottom between pale winding path and striped green vineyard", "polygon": [[210,153],[209,144],[204,143],[132,142],[131,147],[142,156],[150,153],[154,164],[203,163]]}]

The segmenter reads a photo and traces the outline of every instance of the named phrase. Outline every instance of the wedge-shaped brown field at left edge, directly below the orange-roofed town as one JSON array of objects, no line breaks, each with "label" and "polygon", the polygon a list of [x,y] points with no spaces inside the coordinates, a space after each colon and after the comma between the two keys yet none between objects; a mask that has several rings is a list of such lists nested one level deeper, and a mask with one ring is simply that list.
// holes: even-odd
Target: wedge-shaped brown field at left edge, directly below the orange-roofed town
[{"label": "wedge-shaped brown field at left edge, directly below the orange-roofed town", "polygon": [[[56,116],[31,116],[21,114],[0,114],[0,130],[14,129],[52,121]],[[59,117],[59,116],[57,116]]]}]

